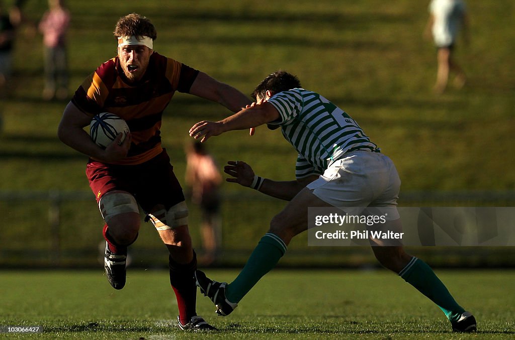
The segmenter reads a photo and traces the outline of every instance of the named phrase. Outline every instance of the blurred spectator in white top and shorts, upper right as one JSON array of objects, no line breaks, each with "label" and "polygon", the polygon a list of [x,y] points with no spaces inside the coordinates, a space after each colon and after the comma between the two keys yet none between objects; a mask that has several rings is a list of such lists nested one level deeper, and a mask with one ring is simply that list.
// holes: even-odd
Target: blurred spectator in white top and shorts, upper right
[{"label": "blurred spectator in white top and shorts, upper right", "polygon": [[465,72],[453,59],[456,35],[463,26],[465,42],[468,43],[468,18],[465,3],[462,0],[432,0],[429,5],[430,17],[426,25],[425,35],[433,35],[438,49],[438,72],[435,92],[442,93],[447,87],[449,73],[456,73],[454,84],[461,88],[467,80]]}]

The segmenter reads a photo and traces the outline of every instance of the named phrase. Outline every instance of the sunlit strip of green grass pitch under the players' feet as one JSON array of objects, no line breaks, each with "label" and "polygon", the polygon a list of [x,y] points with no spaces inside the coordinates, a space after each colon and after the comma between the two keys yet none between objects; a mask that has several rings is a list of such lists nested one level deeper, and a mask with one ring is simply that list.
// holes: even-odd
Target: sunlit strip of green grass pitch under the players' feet
[{"label": "sunlit strip of green grass pitch under the players' feet", "polygon": [[[232,280],[235,271],[208,271]],[[165,271],[129,270],[113,290],[95,271],[0,272],[0,326],[42,326],[39,335],[75,339],[507,339],[515,337],[513,271],[437,271],[478,320],[478,333],[455,334],[443,313],[386,271],[272,271],[228,317],[198,293],[197,312],[219,332],[176,327],[177,305]],[[4,334],[2,334],[4,335]]]}]

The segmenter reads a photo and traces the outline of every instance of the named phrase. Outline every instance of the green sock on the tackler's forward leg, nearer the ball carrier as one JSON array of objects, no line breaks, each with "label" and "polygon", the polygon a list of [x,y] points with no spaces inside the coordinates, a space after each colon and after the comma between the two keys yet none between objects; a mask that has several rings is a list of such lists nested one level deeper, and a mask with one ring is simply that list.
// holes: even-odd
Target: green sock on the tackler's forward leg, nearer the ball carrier
[{"label": "green sock on the tackler's forward leg, nearer the ball carrier", "polygon": [[226,298],[238,303],[286,253],[283,240],[269,232],[259,241],[239,275],[226,286]]}]

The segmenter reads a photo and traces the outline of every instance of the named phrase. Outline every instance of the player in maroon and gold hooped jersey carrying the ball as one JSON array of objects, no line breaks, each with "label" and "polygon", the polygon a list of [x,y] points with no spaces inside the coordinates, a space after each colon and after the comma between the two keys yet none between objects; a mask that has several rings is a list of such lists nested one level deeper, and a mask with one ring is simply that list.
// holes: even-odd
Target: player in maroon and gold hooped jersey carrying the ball
[{"label": "player in maroon and gold hooped jersey carrying the ball", "polygon": [[[176,91],[238,112],[250,100],[235,88],[153,49],[156,28],[144,16],[129,14],[116,24],[118,55],[101,64],[66,106],[59,138],[90,157],[87,176],[104,217],[105,272],[113,288],[126,282],[127,247],[140,229],[139,207],[169,250],[170,283],[177,297],[181,329],[214,329],[196,313],[197,259],[187,226],[188,209],[170,158],[161,145],[161,117]],[[83,130],[95,114],[111,112],[127,121],[106,149]],[[152,289],[152,287],[149,287]]]}]

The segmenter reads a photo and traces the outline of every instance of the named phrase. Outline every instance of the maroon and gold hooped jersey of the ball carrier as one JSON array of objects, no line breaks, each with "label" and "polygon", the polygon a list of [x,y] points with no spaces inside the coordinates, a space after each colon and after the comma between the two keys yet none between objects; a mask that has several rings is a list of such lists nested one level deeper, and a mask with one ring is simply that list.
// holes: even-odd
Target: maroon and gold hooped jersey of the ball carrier
[{"label": "maroon and gold hooped jersey of the ball carrier", "polygon": [[127,121],[132,144],[126,158],[114,163],[141,164],[161,147],[161,118],[176,91],[188,93],[198,70],[153,52],[143,78],[127,84],[118,57],[100,65],[77,89],[72,102],[93,117],[111,112]]}]

